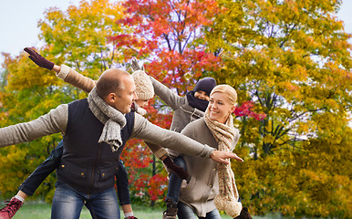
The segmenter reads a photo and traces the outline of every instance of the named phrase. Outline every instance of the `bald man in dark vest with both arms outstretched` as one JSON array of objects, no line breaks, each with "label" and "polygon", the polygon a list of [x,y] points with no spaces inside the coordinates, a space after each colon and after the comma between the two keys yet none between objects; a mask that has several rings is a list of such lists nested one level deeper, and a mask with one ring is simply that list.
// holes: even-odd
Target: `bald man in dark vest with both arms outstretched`
[{"label": "bald man in dark vest with both arms outstretched", "polygon": [[131,138],[168,145],[215,162],[239,159],[234,153],[214,151],[130,112],[135,99],[129,73],[109,69],[100,76],[88,99],[59,105],[37,120],[0,129],[0,147],[63,133],[64,153],[57,171],[52,218],[79,218],[83,204],[93,218],[119,218],[114,175],[123,145]]}]

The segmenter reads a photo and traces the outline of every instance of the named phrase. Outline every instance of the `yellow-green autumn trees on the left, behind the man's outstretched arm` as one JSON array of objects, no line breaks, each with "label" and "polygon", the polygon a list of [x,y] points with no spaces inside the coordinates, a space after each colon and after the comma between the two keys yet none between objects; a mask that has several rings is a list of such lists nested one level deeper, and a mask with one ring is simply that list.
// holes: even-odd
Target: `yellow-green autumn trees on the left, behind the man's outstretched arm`
[{"label": "yellow-green autumn trees on the left, behind the man's outstretched arm", "polygon": [[[39,38],[44,42],[44,46],[38,48],[39,53],[93,79],[107,68],[124,67],[121,51],[108,41],[108,36],[121,31],[115,23],[122,17],[121,8],[108,0],[81,1],[78,6],[70,5],[66,11],[49,8],[45,18],[38,22]],[[35,120],[59,104],[87,97],[83,91],[57,79],[53,72],[38,68],[25,54],[17,57],[5,54],[4,68],[1,79],[4,87],[0,90],[1,127]],[[2,195],[13,195],[61,139],[56,134],[2,149]],[[52,174],[37,193],[51,201],[55,182],[55,174]]]}]

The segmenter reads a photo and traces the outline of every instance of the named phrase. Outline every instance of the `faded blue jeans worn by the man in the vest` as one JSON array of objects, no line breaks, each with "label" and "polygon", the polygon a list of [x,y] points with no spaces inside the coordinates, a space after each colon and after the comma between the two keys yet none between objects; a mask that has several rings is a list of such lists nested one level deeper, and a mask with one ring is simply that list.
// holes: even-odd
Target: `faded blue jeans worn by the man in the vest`
[{"label": "faded blue jeans worn by the man in the vest", "polygon": [[94,219],[119,219],[119,202],[114,188],[88,195],[57,182],[51,207],[52,219],[78,219],[83,205]]}]

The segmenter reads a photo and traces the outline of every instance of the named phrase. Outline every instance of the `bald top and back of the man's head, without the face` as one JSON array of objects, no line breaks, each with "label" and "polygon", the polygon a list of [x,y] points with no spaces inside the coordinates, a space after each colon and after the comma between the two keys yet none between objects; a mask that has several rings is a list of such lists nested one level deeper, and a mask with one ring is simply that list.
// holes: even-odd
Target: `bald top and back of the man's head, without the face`
[{"label": "bald top and back of the man's head, without the face", "polygon": [[111,68],[103,72],[97,82],[97,93],[100,98],[105,99],[109,93],[120,93],[124,89],[124,80],[130,79],[128,72]]}]

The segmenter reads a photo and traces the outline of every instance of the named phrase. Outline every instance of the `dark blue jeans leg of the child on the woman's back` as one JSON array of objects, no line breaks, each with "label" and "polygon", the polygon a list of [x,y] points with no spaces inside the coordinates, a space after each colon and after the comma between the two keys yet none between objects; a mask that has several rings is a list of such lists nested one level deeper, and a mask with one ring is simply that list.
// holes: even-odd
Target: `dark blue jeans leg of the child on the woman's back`
[{"label": "dark blue jeans leg of the child on the woman's back", "polygon": [[[187,172],[186,162],[183,160],[182,156],[179,156],[173,160],[173,162],[183,168]],[[171,200],[172,203],[179,202],[179,196],[181,191],[182,179],[178,177],[174,172],[171,172],[169,178],[168,194],[166,195],[166,200]]]}]

